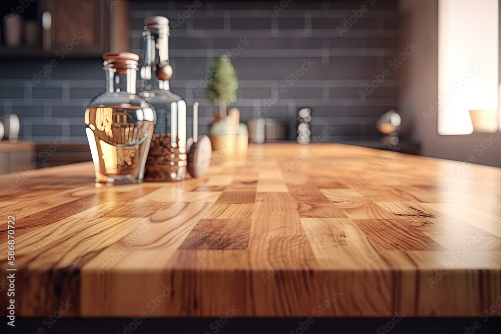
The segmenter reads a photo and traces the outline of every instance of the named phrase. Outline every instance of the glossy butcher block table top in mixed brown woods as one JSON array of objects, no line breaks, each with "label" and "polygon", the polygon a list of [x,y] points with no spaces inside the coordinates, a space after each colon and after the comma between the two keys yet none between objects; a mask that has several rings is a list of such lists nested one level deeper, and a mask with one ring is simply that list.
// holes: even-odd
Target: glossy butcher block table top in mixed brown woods
[{"label": "glossy butcher block table top in mixed brown woods", "polygon": [[340,144],[216,160],[176,183],[97,187],[91,163],[2,176],[16,315],[501,315],[501,169]]}]

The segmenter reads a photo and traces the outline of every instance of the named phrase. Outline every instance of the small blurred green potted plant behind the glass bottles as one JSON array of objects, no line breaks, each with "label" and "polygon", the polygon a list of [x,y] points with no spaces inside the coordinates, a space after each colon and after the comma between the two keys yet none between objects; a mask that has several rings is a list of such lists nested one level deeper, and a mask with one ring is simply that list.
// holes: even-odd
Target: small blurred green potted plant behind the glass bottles
[{"label": "small blurred green potted plant behind the glass bottles", "polygon": [[215,122],[210,128],[212,150],[223,155],[233,155],[236,150],[236,134],[238,131],[239,112],[232,108],[226,113],[226,106],[236,102],[238,78],[230,59],[223,55],[212,63],[212,71],[208,83],[208,98],[219,112],[214,115]]}]

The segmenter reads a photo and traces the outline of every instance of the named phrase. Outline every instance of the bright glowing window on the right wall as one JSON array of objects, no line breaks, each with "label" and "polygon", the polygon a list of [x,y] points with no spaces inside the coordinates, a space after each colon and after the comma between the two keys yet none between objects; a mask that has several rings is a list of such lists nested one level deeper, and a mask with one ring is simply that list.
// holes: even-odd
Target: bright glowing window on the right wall
[{"label": "bright glowing window on the right wall", "polygon": [[498,0],[439,0],[438,11],[438,133],[470,134],[470,110],[498,119]]}]

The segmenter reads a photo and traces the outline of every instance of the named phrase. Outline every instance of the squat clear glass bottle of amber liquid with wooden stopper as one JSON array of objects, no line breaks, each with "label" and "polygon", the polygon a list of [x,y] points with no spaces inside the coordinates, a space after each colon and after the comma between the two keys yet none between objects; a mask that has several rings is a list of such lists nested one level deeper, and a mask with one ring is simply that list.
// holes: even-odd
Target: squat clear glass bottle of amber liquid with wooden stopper
[{"label": "squat clear glass bottle of amber liquid with wooden stopper", "polygon": [[103,59],[106,92],[92,99],[85,110],[96,182],[140,183],[156,122],[155,110],[136,95],[137,55],[108,52]]}]

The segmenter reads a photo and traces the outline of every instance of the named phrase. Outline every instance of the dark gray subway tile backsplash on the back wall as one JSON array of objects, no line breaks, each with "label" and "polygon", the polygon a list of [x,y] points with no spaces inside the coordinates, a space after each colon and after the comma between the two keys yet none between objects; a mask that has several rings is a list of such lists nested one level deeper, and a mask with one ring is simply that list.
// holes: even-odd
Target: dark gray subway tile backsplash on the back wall
[{"label": "dark gray subway tile backsplash on the back wall", "polygon": [[[271,2],[202,2],[182,22],[178,14],[191,3],[133,1],[130,46],[140,53],[145,16],[170,19],[171,89],[185,97],[188,106],[200,103],[201,133],[208,131],[217,112],[206,98],[208,69],[213,58],[229,52],[238,72],[235,106],[242,121],[255,117],[256,103],[270,101],[284,85],[287,92],[263,117],[294,126],[296,110],[309,106],[312,136],[332,122],[338,127],[330,141],[372,139],[380,136],[374,127],[377,117],[396,106],[398,69],[364,101],[359,92],[375,75],[391,69],[389,62],[405,45],[398,40],[394,1],[378,1],[341,36],[337,27],[363,3],[298,1],[276,13]],[[242,39],[250,43],[242,47]],[[0,117],[18,114],[21,135],[28,140],[47,142],[70,134],[72,142],[85,142],[85,105],[105,89],[102,60],[56,60],[58,65],[40,81],[37,75],[50,59],[6,60],[0,65]],[[308,60],[314,63],[311,67],[304,65]],[[187,122],[192,124],[191,118]]]}]

